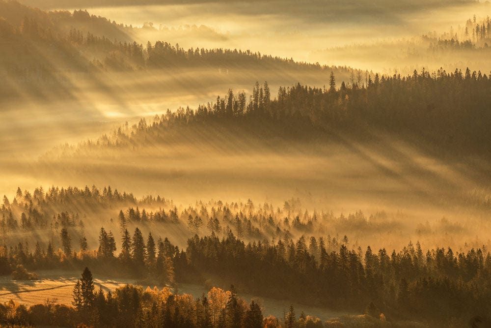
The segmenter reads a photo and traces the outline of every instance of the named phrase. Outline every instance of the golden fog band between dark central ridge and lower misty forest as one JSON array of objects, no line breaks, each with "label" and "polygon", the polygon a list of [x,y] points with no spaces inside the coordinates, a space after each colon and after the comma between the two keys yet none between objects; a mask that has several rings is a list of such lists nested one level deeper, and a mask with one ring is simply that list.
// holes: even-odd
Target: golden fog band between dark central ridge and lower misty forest
[{"label": "golden fog band between dark central ridge and lower misty forest", "polygon": [[[310,213],[387,213],[385,223],[371,231],[352,226],[355,222],[329,231],[347,234],[359,245],[400,248],[420,240],[425,247],[460,247],[488,239],[488,179],[468,163],[444,162],[386,136],[366,143],[349,138],[299,143],[222,132],[184,131],[177,141],[150,140],[137,148],[82,149],[75,155],[55,151],[34,162],[4,159],[2,189],[12,199],[18,185],[31,192],[37,186],[110,185],[137,197],[172,199],[181,209],[199,200],[246,203],[249,198],[256,205],[283,208],[286,200],[298,197],[300,211]],[[118,211],[98,219],[108,222]],[[117,223],[109,228],[117,229]],[[170,229],[155,231],[166,236],[175,228]],[[169,237],[184,246],[187,230],[179,231]]]}]

